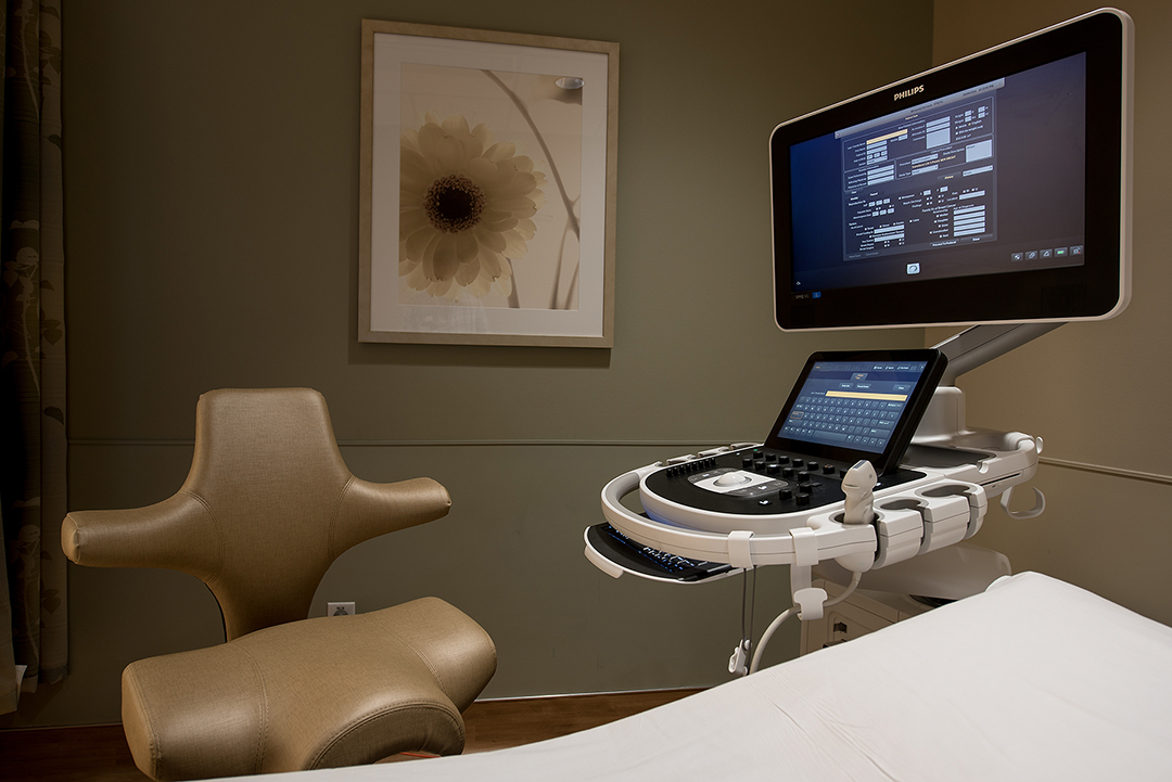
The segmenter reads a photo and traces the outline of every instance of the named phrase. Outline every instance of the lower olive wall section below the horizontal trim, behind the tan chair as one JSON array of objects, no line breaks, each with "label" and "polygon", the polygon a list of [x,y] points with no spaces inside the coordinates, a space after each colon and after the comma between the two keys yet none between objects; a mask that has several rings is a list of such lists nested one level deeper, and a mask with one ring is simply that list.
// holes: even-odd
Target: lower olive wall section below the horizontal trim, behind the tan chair
[{"label": "lower olive wall section below the horizontal trim, behind the tan chair", "polygon": [[[614,579],[582,556],[582,530],[601,521],[606,481],[710,445],[343,445],[360,478],[435,478],[451,493],[452,509],[343,554],[311,613],[325,615],[327,601],[372,611],[442,597],[497,644],[499,665],[485,698],[728,680],[727,660],[741,638],[741,578],[691,586]],[[182,485],[190,459],[184,444],[75,444],[69,507],[157,502]],[[763,571],[756,636],[788,598],[786,569]],[[0,727],[117,721],[123,666],[222,639],[214,599],[190,576],[70,567],[70,675],[26,695],[35,702],[0,718]],[[797,647],[791,623],[771,643],[769,660],[793,657]]]}]

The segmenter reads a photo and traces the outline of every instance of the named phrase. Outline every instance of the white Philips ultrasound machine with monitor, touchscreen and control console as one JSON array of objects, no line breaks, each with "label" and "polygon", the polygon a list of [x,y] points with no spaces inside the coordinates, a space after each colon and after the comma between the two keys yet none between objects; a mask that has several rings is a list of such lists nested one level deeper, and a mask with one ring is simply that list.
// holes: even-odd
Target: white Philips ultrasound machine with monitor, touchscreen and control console
[{"label": "white Philips ultrasound machine with monitor, touchscreen and control console", "polygon": [[[1042,439],[969,428],[954,383],[1126,307],[1132,37],[1125,13],[1102,9],[778,125],[777,325],[969,328],[932,349],[810,356],[763,441],[608,482],[586,557],[680,584],[789,565],[793,609],[754,667],[779,622],[831,604],[815,569],[895,591],[935,562],[948,574],[932,576],[935,597],[972,594],[940,557],[990,500],[1011,517],[1044,509],[1037,489],[1031,509],[1009,508]],[[636,493],[638,508],[625,502]],[[749,647],[730,671],[749,672]]]}]

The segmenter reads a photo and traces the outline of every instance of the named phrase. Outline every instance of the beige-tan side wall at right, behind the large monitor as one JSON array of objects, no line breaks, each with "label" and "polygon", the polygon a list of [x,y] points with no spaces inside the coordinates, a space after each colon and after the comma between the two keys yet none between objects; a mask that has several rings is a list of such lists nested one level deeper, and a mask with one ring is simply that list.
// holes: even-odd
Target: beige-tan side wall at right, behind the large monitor
[{"label": "beige-tan side wall at right, behind the large monitor", "polygon": [[[1045,513],[1014,521],[993,508],[974,542],[1007,554],[1015,570],[1063,578],[1172,623],[1172,4],[1118,6],[1136,23],[1131,306],[1111,321],[1063,325],[959,385],[972,425],[1045,441],[1034,480],[1045,493]],[[934,60],[947,62],[1096,7],[1083,0],[938,1]],[[1014,507],[1028,508],[1029,494],[1023,487]]]}]

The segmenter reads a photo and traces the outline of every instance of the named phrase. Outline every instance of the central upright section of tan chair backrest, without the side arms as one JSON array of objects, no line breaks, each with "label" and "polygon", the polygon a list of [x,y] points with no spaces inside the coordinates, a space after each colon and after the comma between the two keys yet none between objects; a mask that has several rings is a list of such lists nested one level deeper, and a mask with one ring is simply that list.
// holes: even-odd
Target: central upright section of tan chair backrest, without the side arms
[{"label": "central upright section of tan chair backrest, without the side arms", "polygon": [[216,526],[220,567],[206,583],[230,639],[306,617],[341,554],[331,528],[352,479],[316,391],[226,389],[199,398],[180,494]]}]

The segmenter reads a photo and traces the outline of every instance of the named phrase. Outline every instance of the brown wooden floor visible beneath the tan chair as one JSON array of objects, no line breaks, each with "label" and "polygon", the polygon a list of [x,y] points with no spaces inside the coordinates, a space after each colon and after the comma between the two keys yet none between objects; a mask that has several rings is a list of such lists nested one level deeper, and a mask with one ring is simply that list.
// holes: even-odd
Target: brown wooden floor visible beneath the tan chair
[{"label": "brown wooden floor visible beneath the tan chair", "polygon": [[[488,700],[464,712],[464,752],[488,752],[577,733],[679,700],[696,690]],[[408,760],[396,756],[395,761]],[[121,725],[0,730],[0,780],[143,782]]]}]

